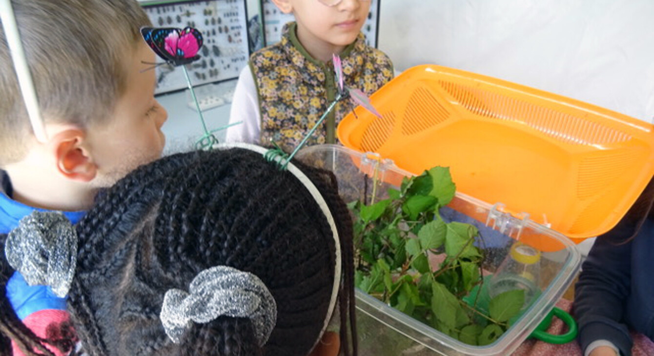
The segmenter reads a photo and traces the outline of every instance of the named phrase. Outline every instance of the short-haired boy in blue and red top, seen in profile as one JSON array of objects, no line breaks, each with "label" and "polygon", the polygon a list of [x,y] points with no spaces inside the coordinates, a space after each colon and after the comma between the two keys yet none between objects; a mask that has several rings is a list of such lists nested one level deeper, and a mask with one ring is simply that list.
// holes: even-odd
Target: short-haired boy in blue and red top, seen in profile
[{"label": "short-haired boy in blue and red top, seen in profile", "polygon": [[[0,28],[0,234],[33,210],[59,210],[76,223],[99,189],[161,156],[167,119],[154,99],[154,71],[143,71],[154,53],[141,38],[150,20],[137,1],[14,0],[12,7],[47,139],[33,135]],[[67,354],[51,333],[68,319],[65,297],[2,272],[0,354],[12,352],[10,339],[14,355]]]}]

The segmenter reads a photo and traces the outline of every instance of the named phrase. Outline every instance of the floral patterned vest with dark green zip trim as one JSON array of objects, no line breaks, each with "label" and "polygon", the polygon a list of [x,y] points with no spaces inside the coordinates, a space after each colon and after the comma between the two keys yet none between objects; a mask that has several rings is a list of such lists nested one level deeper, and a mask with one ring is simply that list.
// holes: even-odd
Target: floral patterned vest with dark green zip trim
[{"label": "floral patterned vest with dark green zip trim", "polygon": [[[393,77],[393,66],[383,52],[366,45],[364,35],[340,54],[345,86],[370,95]],[[281,41],[250,56],[261,112],[260,142],[278,144],[291,152],[320,120],[336,97],[332,62],[309,56],[296,37],[296,23],[282,29]],[[340,101],[307,140],[311,144],[336,142],[336,125],[354,108],[352,99]]]}]

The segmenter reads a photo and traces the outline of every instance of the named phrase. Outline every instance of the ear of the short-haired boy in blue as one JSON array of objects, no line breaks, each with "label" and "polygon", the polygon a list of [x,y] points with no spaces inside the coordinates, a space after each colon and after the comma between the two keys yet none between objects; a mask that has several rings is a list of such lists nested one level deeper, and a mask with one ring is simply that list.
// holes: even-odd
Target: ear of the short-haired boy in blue
[{"label": "ear of the short-haired boy in blue", "polygon": [[89,182],[97,174],[97,166],[82,146],[84,138],[79,129],[65,129],[50,140],[59,172],[79,182]]}]

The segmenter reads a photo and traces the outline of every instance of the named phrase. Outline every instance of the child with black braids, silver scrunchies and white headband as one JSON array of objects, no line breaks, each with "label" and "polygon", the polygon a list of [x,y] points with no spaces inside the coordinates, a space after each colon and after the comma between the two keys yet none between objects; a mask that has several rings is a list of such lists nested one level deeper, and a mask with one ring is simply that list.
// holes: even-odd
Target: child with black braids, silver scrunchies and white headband
[{"label": "child with black braids, silver scrunchies and white headband", "polygon": [[[237,146],[139,167],[75,227],[33,214],[7,237],[8,260],[69,289],[90,355],[356,354],[352,222],[334,176]],[[52,231],[75,241],[29,247]]]}]

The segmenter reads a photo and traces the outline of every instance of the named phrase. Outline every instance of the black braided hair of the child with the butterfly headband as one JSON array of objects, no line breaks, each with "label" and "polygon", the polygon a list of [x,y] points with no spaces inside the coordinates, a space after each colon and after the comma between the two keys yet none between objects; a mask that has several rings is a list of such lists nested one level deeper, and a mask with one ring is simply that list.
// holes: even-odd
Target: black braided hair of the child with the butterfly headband
[{"label": "black braided hair of the child with the butterfly headband", "polygon": [[[351,218],[333,175],[295,165],[337,225],[348,355],[348,317],[356,340]],[[77,232],[69,312],[91,355],[307,355],[324,328],[335,277],[332,229],[302,182],[262,154],[231,148],[142,166],[99,197]],[[274,297],[277,323],[264,346],[250,319],[239,317],[192,323],[179,344],[165,334],[164,293],[188,290],[199,272],[217,265],[258,276]]]}]

